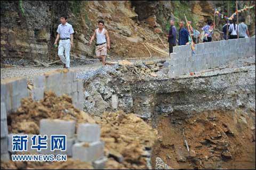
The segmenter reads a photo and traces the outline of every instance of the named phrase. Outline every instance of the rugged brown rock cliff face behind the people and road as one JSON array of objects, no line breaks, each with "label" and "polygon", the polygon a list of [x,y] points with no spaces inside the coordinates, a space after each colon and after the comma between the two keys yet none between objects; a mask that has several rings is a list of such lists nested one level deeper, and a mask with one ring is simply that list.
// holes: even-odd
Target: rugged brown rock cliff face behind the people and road
[{"label": "rugged brown rock cliff face behind the people and road", "polygon": [[[226,1],[215,1],[220,12],[227,13]],[[254,1],[239,1],[239,9]],[[234,12],[235,1],[230,2]],[[169,19],[193,21],[197,29],[213,19],[213,1],[1,1],[1,62],[6,58],[57,60],[53,47],[61,13],[68,14],[73,25],[74,48],[71,53],[80,57],[93,57],[95,45],[89,46],[90,36],[99,19],[105,20],[109,30],[111,49],[109,58],[147,57],[143,43],[164,49],[160,39],[165,34]],[[255,10],[243,14],[251,35],[255,34]],[[217,17],[217,29],[223,25]],[[176,23],[178,27],[178,22]],[[216,31],[217,39],[220,34]],[[94,41],[95,42],[95,41]],[[167,49],[166,49],[167,50]],[[154,56],[161,54],[151,51]],[[161,56],[164,57],[164,56]]]}]

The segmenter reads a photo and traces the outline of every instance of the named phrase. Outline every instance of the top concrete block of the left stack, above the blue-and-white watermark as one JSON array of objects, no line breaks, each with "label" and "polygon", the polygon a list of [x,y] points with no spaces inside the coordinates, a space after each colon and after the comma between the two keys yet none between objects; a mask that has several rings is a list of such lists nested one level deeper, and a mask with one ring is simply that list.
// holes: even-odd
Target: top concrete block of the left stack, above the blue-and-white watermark
[{"label": "top concrete block of the left stack, above the blue-and-white watermark", "polygon": [[67,138],[73,138],[75,135],[74,120],[60,119],[41,119],[40,134],[42,135],[67,135]]}]

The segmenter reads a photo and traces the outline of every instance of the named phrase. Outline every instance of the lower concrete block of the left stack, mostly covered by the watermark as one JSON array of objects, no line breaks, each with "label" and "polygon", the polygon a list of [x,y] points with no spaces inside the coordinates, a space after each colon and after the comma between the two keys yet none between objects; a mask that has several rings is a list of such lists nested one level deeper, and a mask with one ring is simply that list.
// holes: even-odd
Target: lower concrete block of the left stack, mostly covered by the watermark
[{"label": "lower concrete block of the left stack, mostly covered by the watermark", "polygon": [[47,139],[47,143],[48,143],[48,147],[47,149],[42,149],[39,153],[43,154],[43,155],[67,155],[69,157],[71,157],[72,154],[72,147],[75,144],[75,138],[67,138],[66,139],[66,151],[61,151],[61,150],[54,150],[51,151],[51,136],[48,136]]}]

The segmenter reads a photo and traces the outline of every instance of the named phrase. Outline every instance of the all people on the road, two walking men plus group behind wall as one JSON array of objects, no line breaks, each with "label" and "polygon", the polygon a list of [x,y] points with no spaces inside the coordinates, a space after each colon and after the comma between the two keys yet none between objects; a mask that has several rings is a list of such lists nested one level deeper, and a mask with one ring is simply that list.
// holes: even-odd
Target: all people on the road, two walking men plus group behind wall
[{"label": "all people on the road, two walking men plus group behind wall", "polygon": [[[67,22],[67,15],[61,15],[60,22],[61,24],[58,26],[57,29],[57,38],[55,39],[54,45],[57,45],[58,40],[59,47],[58,47],[58,55],[63,63],[63,68],[70,68],[70,59],[69,53],[70,48],[73,47],[73,34],[74,30],[73,27]],[[225,39],[234,39],[237,38],[246,38],[249,37],[249,30],[247,25],[244,23],[245,19],[241,19],[241,23],[237,26],[235,20],[233,23],[229,24],[226,23],[225,26],[222,27],[223,37]],[[189,42],[189,32],[186,28],[184,28],[184,21],[179,22],[179,38],[178,38],[178,45],[186,45]],[[94,33],[90,40],[90,45],[92,44],[94,38],[97,38],[97,43],[95,47],[96,56],[102,61],[103,66],[106,64],[106,56],[107,56],[107,48],[110,49],[110,38],[108,35],[108,31],[103,28],[104,21],[98,21],[98,28],[94,30]],[[228,31],[227,31],[228,29]],[[213,36],[213,25],[211,21],[207,22],[207,25],[202,28],[204,31],[204,39],[203,42],[211,42]],[[199,37],[199,31],[194,30],[194,42],[197,42],[197,37]],[[228,33],[228,34],[227,34]],[[170,20],[170,30],[169,34],[166,35],[168,37],[169,42],[169,53],[173,52],[173,46],[176,45],[176,37],[177,30],[174,26],[174,20]],[[63,55],[65,51],[65,56]]]}]

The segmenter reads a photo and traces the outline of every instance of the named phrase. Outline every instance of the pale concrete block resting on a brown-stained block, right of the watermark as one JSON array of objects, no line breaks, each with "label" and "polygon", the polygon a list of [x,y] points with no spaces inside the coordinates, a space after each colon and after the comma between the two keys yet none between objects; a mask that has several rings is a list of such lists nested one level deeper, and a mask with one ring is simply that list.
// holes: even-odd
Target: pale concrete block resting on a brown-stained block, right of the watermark
[{"label": "pale concrete block resting on a brown-stained block, right of the watermark", "polygon": [[77,140],[79,142],[100,141],[100,125],[98,124],[79,124],[77,128]]}]

